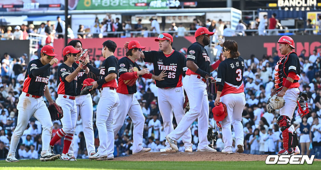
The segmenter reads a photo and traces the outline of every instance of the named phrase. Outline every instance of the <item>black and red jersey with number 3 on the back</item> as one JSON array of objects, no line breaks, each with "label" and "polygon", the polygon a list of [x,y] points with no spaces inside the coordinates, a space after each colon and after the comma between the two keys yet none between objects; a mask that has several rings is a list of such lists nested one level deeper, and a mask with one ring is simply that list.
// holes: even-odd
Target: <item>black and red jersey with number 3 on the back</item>
[{"label": "black and red jersey with number 3 on the back", "polygon": [[243,71],[244,60],[242,57],[227,58],[220,63],[216,84],[223,86],[221,96],[244,92]]}]

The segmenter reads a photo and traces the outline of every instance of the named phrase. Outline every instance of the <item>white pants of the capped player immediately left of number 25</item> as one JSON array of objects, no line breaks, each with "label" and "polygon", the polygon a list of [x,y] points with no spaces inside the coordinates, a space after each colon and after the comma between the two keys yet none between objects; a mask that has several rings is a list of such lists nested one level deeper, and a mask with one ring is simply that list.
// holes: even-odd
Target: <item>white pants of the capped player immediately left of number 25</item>
[{"label": "white pants of the capped player immediately left of number 25", "polygon": [[134,123],[133,152],[140,152],[143,149],[142,143],[145,123],[145,117],[143,115],[142,108],[140,107],[134,94],[117,94],[119,96],[119,105],[117,106],[117,112],[114,115],[113,120],[114,136],[117,135],[119,129],[123,126],[126,115],[128,114]]}]

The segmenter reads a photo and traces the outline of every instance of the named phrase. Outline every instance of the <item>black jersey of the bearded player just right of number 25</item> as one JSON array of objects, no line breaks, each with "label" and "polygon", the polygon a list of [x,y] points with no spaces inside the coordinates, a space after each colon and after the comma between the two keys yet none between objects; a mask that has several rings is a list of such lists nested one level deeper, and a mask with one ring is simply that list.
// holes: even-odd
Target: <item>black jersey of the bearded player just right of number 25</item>
[{"label": "black jersey of the bearded player just right of number 25", "polygon": [[[204,46],[198,42],[194,42],[187,49],[187,60],[194,61],[201,70],[210,72],[210,57],[207,54]],[[187,69],[186,74],[196,74],[195,72]]]}]

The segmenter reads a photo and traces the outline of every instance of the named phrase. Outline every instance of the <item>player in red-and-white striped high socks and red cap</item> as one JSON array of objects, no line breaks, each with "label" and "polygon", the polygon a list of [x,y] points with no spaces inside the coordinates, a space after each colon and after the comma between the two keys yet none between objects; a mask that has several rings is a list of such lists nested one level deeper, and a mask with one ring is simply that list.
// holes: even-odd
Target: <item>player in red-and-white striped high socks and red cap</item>
[{"label": "player in red-and-white striped high socks and red cap", "polygon": [[[63,50],[64,63],[60,64],[57,69],[57,88],[58,98],[56,103],[60,105],[64,111],[64,117],[61,118],[62,128],[56,132],[56,135],[50,141],[51,152],[55,143],[64,137],[64,149],[60,160],[76,161],[74,157],[68,156],[68,150],[72,143],[75,127],[77,122],[77,108],[75,96],[77,95],[77,74],[81,67],[74,68],[72,65],[77,58],[77,53],[73,46],[66,46]],[[88,59],[89,60],[89,59]]]}]

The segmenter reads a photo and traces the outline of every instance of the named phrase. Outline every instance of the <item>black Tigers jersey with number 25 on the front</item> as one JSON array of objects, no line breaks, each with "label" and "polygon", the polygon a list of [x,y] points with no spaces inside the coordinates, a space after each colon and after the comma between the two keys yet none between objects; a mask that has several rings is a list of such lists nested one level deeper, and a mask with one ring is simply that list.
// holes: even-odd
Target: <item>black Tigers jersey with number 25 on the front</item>
[{"label": "black Tigers jersey with number 25 on the front", "polygon": [[161,71],[166,70],[167,76],[162,81],[155,80],[158,88],[181,87],[182,76],[187,70],[185,56],[173,50],[169,55],[159,51],[144,51],[144,61],[152,62],[154,65],[154,75],[159,75]]}]

